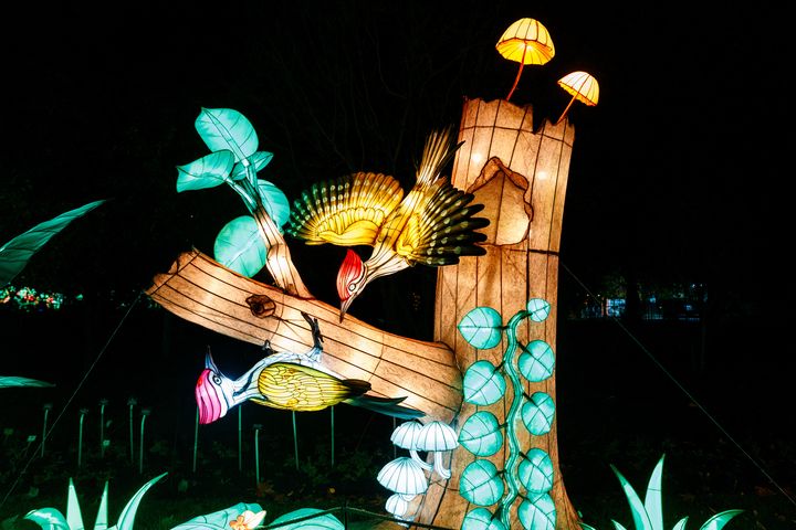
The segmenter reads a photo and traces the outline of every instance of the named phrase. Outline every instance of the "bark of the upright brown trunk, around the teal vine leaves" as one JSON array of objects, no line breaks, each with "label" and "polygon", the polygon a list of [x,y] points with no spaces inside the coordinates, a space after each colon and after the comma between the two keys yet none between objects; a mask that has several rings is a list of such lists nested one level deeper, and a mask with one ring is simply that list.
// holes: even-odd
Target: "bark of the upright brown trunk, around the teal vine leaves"
[{"label": "bark of the upright brown trunk, around the teal vine leaves", "polygon": [[[462,338],[457,325],[480,306],[498,310],[505,325],[525,309],[531,298],[547,300],[552,306],[549,317],[543,322],[524,320],[517,339],[522,344],[544,340],[555,351],[558,248],[573,139],[574,129],[567,120],[558,125],[545,121],[534,131],[530,106],[519,107],[505,100],[464,103],[459,131],[459,140],[464,140],[464,145],[454,161],[452,183],[475,193],[474,202],[485,205],[482,214],[491,221],[483,229],[488,252],[439,269],[434,321],[434,340],[453,349],[462,373],[481,359],[500,364],[507,347],[505,336],[490,350],[476,350]],[[490,411],[500,423],[505,422],[513,399],[507,378],[506,383],[504,398],[493,405],[463,403],[457,430],[476,411]],[[545,392],[555,401],[555,372],[541,383],[525,381],[523,391],[528,395]],[[555,421],[543,436],[532,436],[522,422],[517,432],[524,433],[520,438],[524,452],[542,448],[553,462],[554,486],[549,494],[556,506],[556,528],[579,530],[561,475]],[[502,449],[489,457],[498,469],[503,469],[509,458],[507,446],[504,442]],[[452,477],[431,485],[416,520],[461,528],[464,516],[476,506],[459,494],[459,477],[474,459],[461,446],[452,453]],[[513,505],[512,528],[522,528],[516,517],[519,504]],[[495,512],[494,506],[489,508]]]}]

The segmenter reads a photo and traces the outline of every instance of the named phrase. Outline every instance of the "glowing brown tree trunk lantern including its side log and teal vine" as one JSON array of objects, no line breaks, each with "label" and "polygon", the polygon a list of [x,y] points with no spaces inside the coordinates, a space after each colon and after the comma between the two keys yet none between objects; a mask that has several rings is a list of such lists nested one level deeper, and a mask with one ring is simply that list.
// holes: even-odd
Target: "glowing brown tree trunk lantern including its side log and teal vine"
[{"label": "glowing brown tree trunk lantern including its side log and teal vine", "polygon": [[[247,342],[268,341],[275,351],[312,347],[310,315],[323,333],[321,362],[328,369],[367,381],[373,395],[406,398],[402,405],[427,414],[420,418],[425,425],[453,427],[458,446],[436,452],[439,471],[425,471],[423,495],[412,497],[411,506],[388,502],[413,522],[579,530],[561,475],[555,422],[558,250],[573,139],[567,119],[545,120],[534,130],[531,106],[464,102],[464,144],[451,183],[484,205],[479,216],[490,220],[480,229],[486,253],[438,268],[431,342],[381,331],[350,315],[341,321],[337,308],[306,293],[301,265],[294,267],[286,252],[284,275],[269,268],[275,286],[195,250],[155,276],[147,294],[181,318]],[[281,235],[271,235],[286,251]],[[467,337],[462,326],[484,316],[494,331],[490,340]],[[473,393],[471,380],[484,377],[495,391]],[[486,445],[469,437],[484,428],[491,430]],[[415,462],[402,458],[397,460]],[[429,453],[428,464],[430,458]],[[390,495],[385,490],[385,499]]]}]

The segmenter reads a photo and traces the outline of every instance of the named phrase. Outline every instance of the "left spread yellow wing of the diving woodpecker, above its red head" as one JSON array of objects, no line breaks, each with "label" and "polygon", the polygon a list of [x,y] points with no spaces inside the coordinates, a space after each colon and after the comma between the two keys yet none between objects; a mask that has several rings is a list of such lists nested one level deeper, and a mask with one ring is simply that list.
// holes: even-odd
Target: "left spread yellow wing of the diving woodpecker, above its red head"
[{"label": "left spread yellow wing of the diving woodpecker, above its red head", "polygon": [[317,182],[293,202],[285,226],[308,245],[373,245],[385,218],[404,198],[388,174],[358,172]]}]

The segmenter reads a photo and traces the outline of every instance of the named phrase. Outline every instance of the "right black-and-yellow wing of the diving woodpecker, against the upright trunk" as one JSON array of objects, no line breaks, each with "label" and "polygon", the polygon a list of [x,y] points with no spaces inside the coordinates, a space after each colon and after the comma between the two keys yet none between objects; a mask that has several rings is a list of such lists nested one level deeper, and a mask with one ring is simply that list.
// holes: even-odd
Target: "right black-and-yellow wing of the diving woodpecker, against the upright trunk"
[{"label": "right black-and-yellow wing of the diving woodpecker, against the upright trunk", "polygon": [[[412,191],[415,192],[415,191]],[[486,235],[476,232],[489,224],[474,215],[483,204],[471,204],[472,193],[438,180],[422,190],[417,208],[407,220],[395,243],[395,251],[409,263],[429,266],[452,265],[460,256],[481,256],[486,251],[476,245]]]}]

